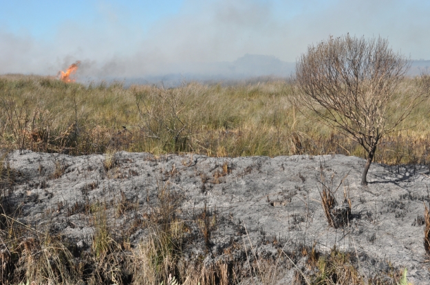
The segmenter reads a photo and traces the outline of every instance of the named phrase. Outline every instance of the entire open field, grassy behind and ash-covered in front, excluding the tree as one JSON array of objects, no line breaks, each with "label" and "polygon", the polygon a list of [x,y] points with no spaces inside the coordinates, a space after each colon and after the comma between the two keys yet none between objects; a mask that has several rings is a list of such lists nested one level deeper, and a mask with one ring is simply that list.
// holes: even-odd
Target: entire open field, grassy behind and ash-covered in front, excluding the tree
[{"label": "entire open field, grassy behind and ash-covered in front, excluding the tree", "polygon": [[[364,187],[364,150],[294,108],[295,92],[267,78],[0,76],[0,282],[407,284],[405,268],[426,280],[430,99],[383,137]],[[322,190],[348,195],[342,226]]]}]

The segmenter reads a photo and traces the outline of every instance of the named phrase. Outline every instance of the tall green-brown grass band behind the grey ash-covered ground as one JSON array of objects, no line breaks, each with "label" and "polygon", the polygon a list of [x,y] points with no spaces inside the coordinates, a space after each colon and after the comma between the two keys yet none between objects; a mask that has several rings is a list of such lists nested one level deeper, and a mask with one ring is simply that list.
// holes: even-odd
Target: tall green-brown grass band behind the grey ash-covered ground
[{"label": "tall green-brown grass band behind the grey ash-covered ground", "polygon": [[[405,80],[398,96],[411,92]],[[345,154],[361,146],[294,109],[292,84],[184,84],[173,89],[121,83],[64,83],[0,76],[0,146],[71,155],[116,150],[194,152],[215,157]],[[426,101],[383,138],[377,162],[429,163]],[[406,128],[406,130],[402,130]]]}]

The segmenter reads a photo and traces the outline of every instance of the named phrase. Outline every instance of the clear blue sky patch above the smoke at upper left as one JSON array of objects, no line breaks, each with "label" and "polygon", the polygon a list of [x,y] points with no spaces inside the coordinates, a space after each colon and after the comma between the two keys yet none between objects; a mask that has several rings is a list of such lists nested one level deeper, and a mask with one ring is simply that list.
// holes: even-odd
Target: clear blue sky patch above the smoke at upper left
[{"label": "clear blue sky patch above the smoke at upper left", "polygon": [[[67,23],[94,25],[118,21],[143,30],[156,21],[178,14],[183,1],[0,1],[0,25],[14,34],[52,39]],[[98,29],[103,27],[98,26]]]}]

